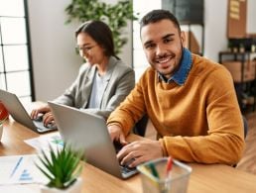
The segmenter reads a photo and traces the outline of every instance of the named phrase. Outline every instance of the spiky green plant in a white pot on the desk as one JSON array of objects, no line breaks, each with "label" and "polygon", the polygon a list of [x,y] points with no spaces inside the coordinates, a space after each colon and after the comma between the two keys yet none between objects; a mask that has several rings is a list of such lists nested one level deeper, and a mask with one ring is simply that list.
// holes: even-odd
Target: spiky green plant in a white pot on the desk
[{"label": "spiky green plant in a white pot on the desk", "polygon": [[82,170],[80,159],[81,151],[74,150],[64,143],[63,148],[54,149],[51,145],[50,152],[42,150],[38,155],[39,162],[36,166],[49,179],[48,184],[41,186],[42,193],[78,193],[81,191],[82,181],[79,174]]}]

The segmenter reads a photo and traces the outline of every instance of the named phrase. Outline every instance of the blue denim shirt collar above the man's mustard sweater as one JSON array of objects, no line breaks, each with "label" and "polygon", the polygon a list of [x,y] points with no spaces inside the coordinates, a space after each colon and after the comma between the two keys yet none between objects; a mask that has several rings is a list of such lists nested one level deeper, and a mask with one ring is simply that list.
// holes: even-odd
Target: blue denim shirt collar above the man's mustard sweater
[{"label": "blue denim shirt collar above the man's mustard sweater", "polygon": [[192,52],[188,48],[183,48],[183,57],[180,63],[180,68],[175,74],[166,80],[163,74],[159,73],[159,77],[167,83],[170,83],[172,80],[179,85],[184,85],[185,81],[188,78],[189,72],[192,68]]}]

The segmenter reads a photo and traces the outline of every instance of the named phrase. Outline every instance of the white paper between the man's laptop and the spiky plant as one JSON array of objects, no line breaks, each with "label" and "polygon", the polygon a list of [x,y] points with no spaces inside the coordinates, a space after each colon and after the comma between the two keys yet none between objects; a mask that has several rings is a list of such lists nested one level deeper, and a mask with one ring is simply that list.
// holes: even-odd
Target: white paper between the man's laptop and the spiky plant
[{"label": "white paper between the man's laptop and the spiky plant", "polygon": [[33,146],[38,151],[50,150],[49,145],[51,145],[54,149],[62,148],[64,146],[64,141],[62,140],[59,133],[47,134],[38,138],[25,140],[24,142]]}]

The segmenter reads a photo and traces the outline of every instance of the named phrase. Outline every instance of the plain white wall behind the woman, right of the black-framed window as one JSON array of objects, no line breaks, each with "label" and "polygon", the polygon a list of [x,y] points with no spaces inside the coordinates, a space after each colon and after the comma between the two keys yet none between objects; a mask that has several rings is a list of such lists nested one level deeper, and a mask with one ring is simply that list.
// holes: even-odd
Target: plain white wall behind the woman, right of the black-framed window
[{"label": "plain white wall behind the woman, right of the black-framed window", "polygon": [[[82,63],[74,51],[74,30],[78,23],[64,25],[67,18],[64,8],[69,3],[70,0],[28,1],[36,100],[46,102],[61,95],[76,77]],[[119,55],[130,65],[131,34],[130,27],[125,33],[129,44]]]}]

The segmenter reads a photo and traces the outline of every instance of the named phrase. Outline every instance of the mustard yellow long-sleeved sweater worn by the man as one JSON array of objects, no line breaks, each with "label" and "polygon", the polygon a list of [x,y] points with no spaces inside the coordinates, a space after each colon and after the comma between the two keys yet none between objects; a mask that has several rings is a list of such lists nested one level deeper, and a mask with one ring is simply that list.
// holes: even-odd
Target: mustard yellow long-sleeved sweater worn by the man
[{"label": "mustard yellow long-sleeved sweater worn by the man", "polygon": [[233,81],[220,64],[192,54],[184,85],[165,83],[149,67],[107,125],[128,135],[146,113],[165,155],[186,162],[234,164],[244,148],[244,131]]}]

